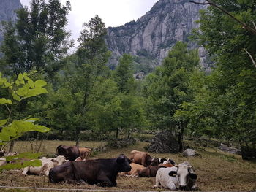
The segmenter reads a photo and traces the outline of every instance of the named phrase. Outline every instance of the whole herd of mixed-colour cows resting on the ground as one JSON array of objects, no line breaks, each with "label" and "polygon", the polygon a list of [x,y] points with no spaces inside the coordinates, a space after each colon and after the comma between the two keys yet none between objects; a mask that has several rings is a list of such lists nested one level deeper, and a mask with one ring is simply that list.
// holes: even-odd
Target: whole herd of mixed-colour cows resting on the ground
[{"label": "whole herd of mixed-colour cows resting on the ground", "polygon": [[170,158],[152,158],[146,152],[132,150],[129,158],[87,159],[91,149],[59,145],[56,158],[40,158],[42,166],[23,168],[22,174],[45,174],[50,183],[89,183],[116,186],[116,177],[156,177],[154,188],[195,190],[195,174],[189,162],[176,163]]}]

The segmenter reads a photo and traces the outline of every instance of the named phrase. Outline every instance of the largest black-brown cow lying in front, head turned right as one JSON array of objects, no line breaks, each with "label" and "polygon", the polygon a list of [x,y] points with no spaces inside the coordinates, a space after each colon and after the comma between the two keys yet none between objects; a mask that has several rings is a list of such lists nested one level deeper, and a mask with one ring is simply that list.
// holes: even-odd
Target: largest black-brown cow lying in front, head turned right
[{"label": "largest black-brown cow lying in front, head turned right", "polygon": [[68,161],[50,169],[50,183],[86,182],[91,185],[116,186],[118,172],[129,172],[131,161],[125,155],[117,158],[99,158],[86,161]]}]

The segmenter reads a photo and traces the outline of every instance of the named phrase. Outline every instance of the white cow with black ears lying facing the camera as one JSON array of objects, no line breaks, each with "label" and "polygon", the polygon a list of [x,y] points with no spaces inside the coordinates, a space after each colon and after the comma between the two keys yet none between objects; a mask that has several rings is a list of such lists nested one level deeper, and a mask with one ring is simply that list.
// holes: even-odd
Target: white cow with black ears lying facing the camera
[{"label": "white cow with black ears lying facing the camera", "polygon": [[162,185],[163,188],[168,188],[170,190],[195,190],[196,184],[195,180],[197,175],[192,170],[192,166],[189,162],[185,161],[178,166],[173,166],[170,168],[160,168],[156,175],[156,184],[154,188],[158,188]]}]

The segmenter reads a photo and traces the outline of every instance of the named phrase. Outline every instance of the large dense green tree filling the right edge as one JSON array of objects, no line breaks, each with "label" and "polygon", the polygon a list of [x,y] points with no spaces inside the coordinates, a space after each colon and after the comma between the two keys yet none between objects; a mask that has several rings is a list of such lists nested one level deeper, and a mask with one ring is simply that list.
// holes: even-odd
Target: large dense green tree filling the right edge
[{"label": "large dense green tree filling the right edge", "polygon": [[[212,118],[217,122],[216,130],[220,130],[218,137],[240,142],[242,151],[250,147],[255,150],[256,69],[244,51],[248,50],[255,58],[256,35],[253,30],[248,30],[256,19],[252,11],[255,2],[217,0],[214,3],[225,12],[208,7],[201,12],[200,28],[195,32],[195,39],[211,55],[215,55],[216,63],[208,90],[216,97],[216,102],[209,102],[209,105],[217,111],[204,119]],[[241,27],[241,23],[234,18],[246,27]]]}]

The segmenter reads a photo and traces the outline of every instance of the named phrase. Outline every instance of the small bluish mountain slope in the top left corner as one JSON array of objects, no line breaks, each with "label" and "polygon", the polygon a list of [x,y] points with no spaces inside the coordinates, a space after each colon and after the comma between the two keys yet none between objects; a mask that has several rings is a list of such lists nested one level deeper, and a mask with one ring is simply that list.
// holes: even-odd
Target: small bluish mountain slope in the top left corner
[{"label": "small bluish mountain slope in the top left corner", "polygon": [[4,39],[1,32],[1,22],[15,21],[17,19],[15,10],[21,7],[20,0],[0,0],[0,43]]}]

